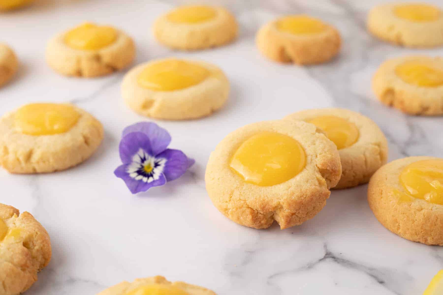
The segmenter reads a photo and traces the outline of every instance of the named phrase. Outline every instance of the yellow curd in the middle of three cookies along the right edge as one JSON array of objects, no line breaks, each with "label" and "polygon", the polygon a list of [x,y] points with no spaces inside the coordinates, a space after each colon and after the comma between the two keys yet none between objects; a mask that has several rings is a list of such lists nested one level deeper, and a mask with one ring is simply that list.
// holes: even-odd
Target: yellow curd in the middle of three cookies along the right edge
[{"label": "yellow curd in the middle of three cookies along the right edge", "polygon": [[417,61],[407,61],[398,65],[395,72],[401,80],[408,84],[422,87],[438,87],[443,85],[443,69]]}]

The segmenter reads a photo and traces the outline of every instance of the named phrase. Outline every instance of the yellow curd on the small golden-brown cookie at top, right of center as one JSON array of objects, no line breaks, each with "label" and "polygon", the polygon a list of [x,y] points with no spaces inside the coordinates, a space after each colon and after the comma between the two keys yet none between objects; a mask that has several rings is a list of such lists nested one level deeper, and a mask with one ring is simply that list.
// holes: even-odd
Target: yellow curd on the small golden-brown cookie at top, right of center
[{"label": "yellow curd on the small golden-brown cookie at top, right of center", "polygon": [[325,24],[307,15],[287,16],[277,21],[277,29],[291,34],[317,34],[323,32]]}]

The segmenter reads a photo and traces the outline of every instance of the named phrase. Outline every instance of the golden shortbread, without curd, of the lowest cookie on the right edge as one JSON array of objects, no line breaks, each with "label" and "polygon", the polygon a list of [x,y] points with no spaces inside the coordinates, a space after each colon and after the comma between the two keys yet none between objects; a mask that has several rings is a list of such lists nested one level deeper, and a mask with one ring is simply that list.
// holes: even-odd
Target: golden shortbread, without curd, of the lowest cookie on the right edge
[{"label": "golden shortbread, without curd, of the lowest cookie on the right edge", "polygon": [[414,199],[399,202],[395,190],[405,192],[400,173],[409,164],[435,157],[407,157],[381,167],[369,181],[368,202],[378,221],[402,238],[427,245],[443,245],[443,205]]}]

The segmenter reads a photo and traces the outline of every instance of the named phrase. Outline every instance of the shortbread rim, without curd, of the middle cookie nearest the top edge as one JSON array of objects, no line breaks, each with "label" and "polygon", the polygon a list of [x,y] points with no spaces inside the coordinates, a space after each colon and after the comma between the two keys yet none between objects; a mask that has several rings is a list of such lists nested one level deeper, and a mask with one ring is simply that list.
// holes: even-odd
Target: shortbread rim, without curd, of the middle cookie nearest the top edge
[{"label": "shortbread rim, without curd, of the middle cookie nearest the top edge", "polygon": [[238,34],[235,17],[225,8],[214,7],[213,19],[202,23],[173,23],[167,14],[154,23],[153,32],[158,42],[179,50],[200,50],[234,41]]}]

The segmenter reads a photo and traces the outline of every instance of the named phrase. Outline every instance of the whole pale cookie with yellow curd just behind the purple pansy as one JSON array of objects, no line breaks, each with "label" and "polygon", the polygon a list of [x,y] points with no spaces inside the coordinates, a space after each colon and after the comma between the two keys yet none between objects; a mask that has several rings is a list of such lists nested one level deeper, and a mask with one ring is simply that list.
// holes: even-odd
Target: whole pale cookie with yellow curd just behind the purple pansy
[{"label": "whole pale cookie with yellow curd just behind the purple pansy", "polygon": [[229,81],[221,69],[176,58],[137,65],[121,85],[121,95],[133,111],[156,119],[210,115],[223,107],[228,94]]}]

